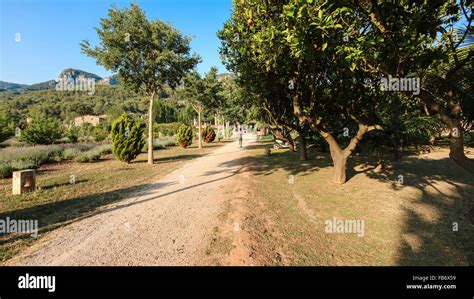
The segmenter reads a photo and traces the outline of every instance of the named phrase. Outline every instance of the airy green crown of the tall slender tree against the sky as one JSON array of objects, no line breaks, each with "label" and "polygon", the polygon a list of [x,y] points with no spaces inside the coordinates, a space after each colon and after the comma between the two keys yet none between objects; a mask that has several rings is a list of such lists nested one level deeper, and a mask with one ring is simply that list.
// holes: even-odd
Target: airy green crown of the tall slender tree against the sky
[{"label": "airy green crown of the tall slender tree against the sky", "polygon": [[177,86],[200,61],[199,56],[189,54],[189,37],[170,24],[148,20],[136,3],[124,9],[112,6],[96,32],[100,44],[91,47],[85,40],[82,52],[117,72],[120,84],[135,91],[144,88],[148,95],[165,83]]}]

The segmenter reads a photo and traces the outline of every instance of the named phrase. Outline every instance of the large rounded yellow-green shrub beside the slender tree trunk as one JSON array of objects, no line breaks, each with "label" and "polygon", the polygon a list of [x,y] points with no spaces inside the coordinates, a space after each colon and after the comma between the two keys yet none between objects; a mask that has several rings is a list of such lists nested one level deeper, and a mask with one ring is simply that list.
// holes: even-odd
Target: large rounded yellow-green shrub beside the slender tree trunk
[{"label": "large rounded yellow-green shrub beside the slender tree trunk", "polygon": [[122,114],[112,124],[112,151],[120,161],[130,163],[145,146],[145,125],[137,119]]}]

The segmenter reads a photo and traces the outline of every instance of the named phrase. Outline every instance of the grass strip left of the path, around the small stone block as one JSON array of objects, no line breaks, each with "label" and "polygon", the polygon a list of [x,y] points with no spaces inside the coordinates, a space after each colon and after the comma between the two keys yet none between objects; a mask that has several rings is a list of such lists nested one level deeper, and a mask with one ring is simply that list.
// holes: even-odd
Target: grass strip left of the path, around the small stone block
[{"label": "grass strip left of the path, around the small stone block", "polygon": [[[12,195],[12,180],[0,181],[0,219],[38,220],[39,233],[54,230],[100,211],[145,185],[159,180],[181,167],[187,160],[213,151],[221,144],[204,144],[202,149],[178,146],[155,151],[155,164],[148,165],[142,153],[130,164],[107,155],[94,163],[60,162],[43,165],[38,170],[34,193]],[[75,183],[71,184],[71,176]],[[0,235],[0,261],[11,258],[36,238],[25,234]]]}]

